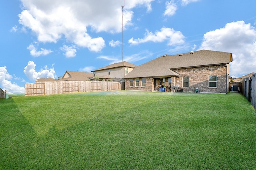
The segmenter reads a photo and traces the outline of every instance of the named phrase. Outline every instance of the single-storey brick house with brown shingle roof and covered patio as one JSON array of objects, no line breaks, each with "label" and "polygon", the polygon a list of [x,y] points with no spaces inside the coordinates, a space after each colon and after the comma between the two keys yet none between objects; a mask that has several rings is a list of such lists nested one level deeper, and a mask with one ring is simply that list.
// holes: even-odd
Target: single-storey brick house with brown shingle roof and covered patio
[{"label": "single-storey brick house with brown shingle roof and covered patio", "polygon": [[178,55],[163,55],[137,66],[125,79],[125,90],[168,91],[178,86],[183,92],[227,93],[232,53],[200,50]]}]

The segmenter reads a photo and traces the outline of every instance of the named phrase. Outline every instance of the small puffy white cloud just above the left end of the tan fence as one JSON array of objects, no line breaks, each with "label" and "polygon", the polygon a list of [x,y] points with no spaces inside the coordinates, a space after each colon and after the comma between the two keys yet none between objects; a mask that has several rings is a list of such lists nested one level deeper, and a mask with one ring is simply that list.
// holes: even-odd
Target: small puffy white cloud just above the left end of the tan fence
[{"label": "small puffy white cloud just above the left end of the tan fence", "polygon": [[24,68],[24,73],[29,80],[35,81],[38,78],[54,78],[57,77],[54,68],[48,69],[47,66],[44,67],[44,70],[41,69],[40,72],[35,70],[36,64],[33,61],[29,61],[28,65]]}]

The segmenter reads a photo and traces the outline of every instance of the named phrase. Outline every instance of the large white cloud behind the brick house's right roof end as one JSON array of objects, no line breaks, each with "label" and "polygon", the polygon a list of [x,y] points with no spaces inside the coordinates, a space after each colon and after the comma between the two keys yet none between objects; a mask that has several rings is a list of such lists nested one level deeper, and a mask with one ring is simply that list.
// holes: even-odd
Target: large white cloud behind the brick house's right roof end
[{"label": "large white cloud behind the brick house's right roof end", "polygon": [[223,28],[205,33],[200,49],[232,53],[230,76],[256,72],[256,29],[250,23],[231,22]]}]

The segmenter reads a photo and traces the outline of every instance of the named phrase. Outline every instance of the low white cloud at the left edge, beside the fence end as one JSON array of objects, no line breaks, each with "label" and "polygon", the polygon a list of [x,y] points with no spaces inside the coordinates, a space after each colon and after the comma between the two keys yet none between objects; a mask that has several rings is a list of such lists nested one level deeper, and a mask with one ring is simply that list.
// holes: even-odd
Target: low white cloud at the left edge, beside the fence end
[{"label": "low white cloud at the left edge, beside the fence end", "polygon": [[20,87],[15,83],[12,83],[12,75],[7,72],[6,66],[0,67],[0,85],[3,90],[6,90],[7,93],[24,93],[25,88]]}]

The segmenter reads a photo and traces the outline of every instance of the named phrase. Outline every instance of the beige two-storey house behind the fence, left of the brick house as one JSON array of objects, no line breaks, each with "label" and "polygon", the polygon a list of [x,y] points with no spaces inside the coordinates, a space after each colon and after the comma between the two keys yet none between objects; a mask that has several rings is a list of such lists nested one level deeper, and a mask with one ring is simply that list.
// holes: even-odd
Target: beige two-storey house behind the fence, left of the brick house
[{"label": "beige two-storey house behind the fence, left of the brick house", "polygon": [[124,76],[132,71],[137,65],[126,61],[121,63],[110,64],[102,68],[93,70],[93,78],[100,81],[112,80],[115,82],[124,81]]}]

